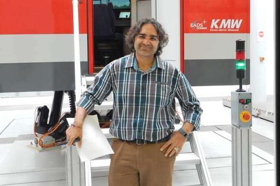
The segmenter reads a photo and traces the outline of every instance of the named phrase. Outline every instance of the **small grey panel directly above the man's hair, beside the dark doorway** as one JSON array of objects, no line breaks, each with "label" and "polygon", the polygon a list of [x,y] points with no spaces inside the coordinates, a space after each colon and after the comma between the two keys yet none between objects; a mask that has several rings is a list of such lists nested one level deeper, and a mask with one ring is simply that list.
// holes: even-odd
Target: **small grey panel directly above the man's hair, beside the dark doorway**
[{"label": "small grey panel directly above the man's hair, beside the dark doorway", "polygon": [[151,17],[152,17],[151,0],[138,0],[137,21],[140,21],[142,18],[151,18]]}]

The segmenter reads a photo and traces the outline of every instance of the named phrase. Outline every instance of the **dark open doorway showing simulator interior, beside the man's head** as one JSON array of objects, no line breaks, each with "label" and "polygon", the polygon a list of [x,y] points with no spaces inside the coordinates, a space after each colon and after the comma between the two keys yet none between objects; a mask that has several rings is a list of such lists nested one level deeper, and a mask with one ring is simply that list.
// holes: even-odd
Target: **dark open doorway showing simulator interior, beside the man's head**
[{"label": "dark open doorway showing simulator interior, beside the man's head", "polygon": [[131,25],[131,0],[93,0],[94,72],[130,53],[124,38]]}]

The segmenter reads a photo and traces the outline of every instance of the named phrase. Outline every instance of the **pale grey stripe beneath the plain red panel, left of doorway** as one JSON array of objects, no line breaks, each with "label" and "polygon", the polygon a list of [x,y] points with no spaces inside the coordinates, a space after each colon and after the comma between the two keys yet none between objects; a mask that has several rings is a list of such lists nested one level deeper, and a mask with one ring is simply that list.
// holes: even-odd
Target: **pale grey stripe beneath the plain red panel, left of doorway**
[{"label": "pale grey stripe beneath the plain red panel, left of doorway", "polygon": [[[0,35],[0,63],[74,61],[73,34]],[[80,34],[80,59],[87,61],[87,35]]]}]

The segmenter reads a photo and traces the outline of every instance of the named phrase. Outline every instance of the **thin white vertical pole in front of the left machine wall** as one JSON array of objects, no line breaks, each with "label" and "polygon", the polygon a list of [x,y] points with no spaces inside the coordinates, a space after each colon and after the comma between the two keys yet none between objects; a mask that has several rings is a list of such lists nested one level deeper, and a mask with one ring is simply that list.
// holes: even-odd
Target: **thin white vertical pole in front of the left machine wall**
[{"label": "thin white vertical pole in front of the left machine wall", "polygon": [[75,61],[75,90],[76,100],[81,98],[81,62],[80,62],[80,40],[79,40],[79,12],[78,0],[73,0],[73,21],[74,21],[74,61]]}]

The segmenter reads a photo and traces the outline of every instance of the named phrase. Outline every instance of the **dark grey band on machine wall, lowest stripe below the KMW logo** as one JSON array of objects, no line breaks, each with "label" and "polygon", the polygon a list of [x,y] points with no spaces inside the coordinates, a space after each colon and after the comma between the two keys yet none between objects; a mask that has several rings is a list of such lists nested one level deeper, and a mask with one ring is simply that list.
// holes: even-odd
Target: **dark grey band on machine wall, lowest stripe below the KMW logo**
[{"label": "dark grey band on machine wall, lowest stripe below the KMW logo", "polygon": [[[185,60],[185,75],[192,86],[239,85],[235,59]],[[246,79],[250,84],[250,59],[246,60]]]}]

